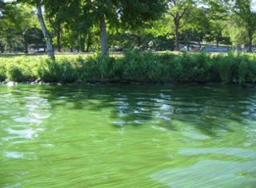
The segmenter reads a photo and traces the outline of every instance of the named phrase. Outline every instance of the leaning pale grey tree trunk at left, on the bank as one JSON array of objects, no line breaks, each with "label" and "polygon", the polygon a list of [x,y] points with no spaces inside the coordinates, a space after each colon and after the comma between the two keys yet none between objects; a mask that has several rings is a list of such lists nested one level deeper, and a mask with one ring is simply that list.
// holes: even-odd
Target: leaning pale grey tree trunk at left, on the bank
[{"label": "leaning pale grey tree trunk at left, on the bank", "polygon": [[46,23],[44,22],[44,19],[42,17],[42,4],[41,0],[37,1],[37,10],[38,10],[38,20],[40,22],[40,25],[42,27],[42,33],[46,40],[46,52],[48,56],[51,58],[52,61],[55,61],[54,56],[54,46],[52,45],[50,34],[48,33],[46,29]]}]

